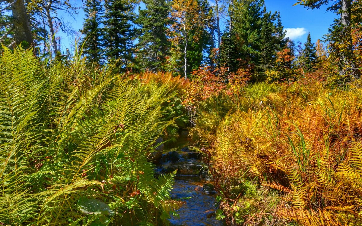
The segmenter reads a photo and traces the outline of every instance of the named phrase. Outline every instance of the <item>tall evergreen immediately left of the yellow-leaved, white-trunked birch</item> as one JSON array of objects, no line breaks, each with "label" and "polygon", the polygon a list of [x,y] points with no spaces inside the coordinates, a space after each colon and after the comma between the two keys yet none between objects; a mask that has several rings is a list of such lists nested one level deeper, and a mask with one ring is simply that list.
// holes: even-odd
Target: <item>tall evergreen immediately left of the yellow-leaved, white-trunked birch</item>
[{"label": "tall evergreen immediately left of the yellow-leaved, white-trunked birch", "polygon": [[141,70],[162,70],[171,43],[167,39],[170,5],[166,0],[143,0],[136,24],[140,26],[137,61]]}]

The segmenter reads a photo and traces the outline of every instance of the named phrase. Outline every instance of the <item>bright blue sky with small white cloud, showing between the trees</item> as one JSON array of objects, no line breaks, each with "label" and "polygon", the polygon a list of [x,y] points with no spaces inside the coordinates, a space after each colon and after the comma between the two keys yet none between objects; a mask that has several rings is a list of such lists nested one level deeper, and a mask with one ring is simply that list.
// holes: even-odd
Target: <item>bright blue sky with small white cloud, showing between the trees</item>
[{"label": "bright blue sky with small white cloud, showing between the trees", "polygon": [[[307,9],[301,5],[292,6],[297,0],[265,0],[266,9],[268,11],[279,11],[281,14],[282,24],[290,39],[295,42],[306,42],[308,32],[311,33],[312,42],[317,42],[318,39],[322,39],[323,35],[328,33],[328,28],[333,23],[336,14],[327,12],[327,6],[322,6],[320,9]],[[81,0],[73,0],[76,6],[81,6]],[[212,6],[214,0],[209,0],[209,4]],[[61,49],[73,49],[75,39],[79,36],[79,29],[81,29],[84,22],[84,12],[80,8],[78,14],[73,15],[75,18],[71,18],[69,15],[61,15],[64,20],[69,23],[73,28],[73,32],[70,34],[58,31],[60,36]]]}]

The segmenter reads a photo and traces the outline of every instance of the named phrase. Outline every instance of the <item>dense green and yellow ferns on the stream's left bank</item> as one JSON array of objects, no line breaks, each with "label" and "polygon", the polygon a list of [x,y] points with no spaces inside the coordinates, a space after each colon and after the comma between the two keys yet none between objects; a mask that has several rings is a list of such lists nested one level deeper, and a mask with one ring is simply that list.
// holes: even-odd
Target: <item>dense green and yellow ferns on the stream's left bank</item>
[{"label": "dense green and yellow ferns on the stream's left bank", "polygon": [[126,77],[77,57],[69,66],[39,62],[23,49],[4,48],[0,65],[3,225],[157,225],[168,218],[177,204],[168,200],[173,175],[156,179],[147,156],[177,127],[179,79]]}]

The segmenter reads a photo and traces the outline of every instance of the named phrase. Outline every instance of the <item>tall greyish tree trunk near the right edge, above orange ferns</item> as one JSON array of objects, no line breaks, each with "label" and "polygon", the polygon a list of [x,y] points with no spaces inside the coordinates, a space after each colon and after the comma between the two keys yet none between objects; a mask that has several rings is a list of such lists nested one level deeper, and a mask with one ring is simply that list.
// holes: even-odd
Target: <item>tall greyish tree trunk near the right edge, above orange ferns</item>
[{"label": "tall greyish tree trunk near the right edge, above orange ferns", "polygon": [[343,25],[342,36],[346,37],[347,51],[343,53],[344,68],[340,74],[351,73],[354,78],[359,78],[359,71],[354,62],[353,42],[351,34],[351,0],[341,0],[341,23]]}]

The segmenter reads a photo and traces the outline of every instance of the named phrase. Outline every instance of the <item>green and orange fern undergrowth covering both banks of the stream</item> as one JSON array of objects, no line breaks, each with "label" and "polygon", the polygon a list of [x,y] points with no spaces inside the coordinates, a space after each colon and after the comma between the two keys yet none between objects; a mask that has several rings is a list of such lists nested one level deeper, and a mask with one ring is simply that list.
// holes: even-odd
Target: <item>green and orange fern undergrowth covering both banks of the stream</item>
[{"label": "green and orange fern undergrowth covering both banks of the stream", "polygon": [[[362,225],[362,85],[193,82],[0,56],[0,224],[168,225],[156,139],[190,120],[230,225]],[[185,106],[186,105],[186,108]],[[186,110],[188,112],[186,112]],[[189,113],[189,117],[187,117]]]}]

